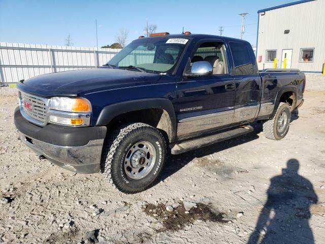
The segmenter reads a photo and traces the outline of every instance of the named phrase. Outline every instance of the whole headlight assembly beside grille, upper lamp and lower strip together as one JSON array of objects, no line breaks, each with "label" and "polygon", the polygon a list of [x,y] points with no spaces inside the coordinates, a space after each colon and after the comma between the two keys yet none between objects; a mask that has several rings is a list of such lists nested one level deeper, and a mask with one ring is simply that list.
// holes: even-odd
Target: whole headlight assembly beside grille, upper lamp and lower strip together
[{"label": "whole headlight assembly beside grille, upper lamp and lower strip together", "polygon": [[50,100],[49,122],[67,126],[89,126],[91,104],[85,98],[54,97]]}]

